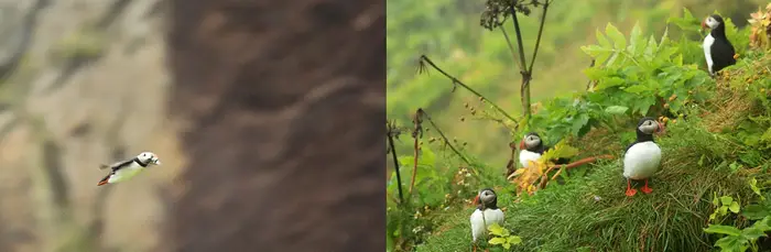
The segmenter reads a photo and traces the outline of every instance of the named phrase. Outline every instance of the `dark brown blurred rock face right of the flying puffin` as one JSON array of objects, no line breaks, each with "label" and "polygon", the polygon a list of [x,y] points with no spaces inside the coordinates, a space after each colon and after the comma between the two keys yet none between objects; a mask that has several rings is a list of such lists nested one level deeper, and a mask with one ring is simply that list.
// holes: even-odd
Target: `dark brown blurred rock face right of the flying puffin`
[{"label": "dark brown blurred rock face right of the flying puffin", "polygon": [[382,250],[383,1],[173,2],[172,250]]}]

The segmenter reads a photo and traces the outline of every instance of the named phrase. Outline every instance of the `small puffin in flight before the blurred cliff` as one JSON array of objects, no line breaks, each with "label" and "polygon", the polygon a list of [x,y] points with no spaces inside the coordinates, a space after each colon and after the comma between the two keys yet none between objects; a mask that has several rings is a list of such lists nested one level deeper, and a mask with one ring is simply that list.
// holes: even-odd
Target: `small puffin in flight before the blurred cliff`
[{"label": "small puffin in flight before the blurred cliff", "polygon": [[111,165],[99,165],[100,169],[110,168],[110,174],[99,180],[97,186],[128,180],[152,165],[161,165],[161,161],[152,152],[142,152],[133,158],[117,162]]}]

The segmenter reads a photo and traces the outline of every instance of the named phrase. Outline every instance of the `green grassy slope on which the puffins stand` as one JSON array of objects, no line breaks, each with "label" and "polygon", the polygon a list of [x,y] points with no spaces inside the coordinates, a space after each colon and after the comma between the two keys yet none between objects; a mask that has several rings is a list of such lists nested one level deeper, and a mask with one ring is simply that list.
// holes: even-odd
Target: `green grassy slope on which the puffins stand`
[{"label": "green grassy slope on which the puffins stand", "polygon": [[[768,83],[769,73],[761,69],[771,57],[743,62],[728,70],[728,78],[718,80],[714,98],[704,109],[694,110],[688,120],[671,123],[667,133],[656,141],[663,150],[661,171],[652,180],[651,195],[623,195],[620,160],[591,165],[584,177],[564,186],[550,186],[535,196],[514,202],[507,189],[499,189],[500,207],[507,211],[504,227],[520,235],[523,244],[514,251],[708,251],[715,237],[703,232],[713,212],[713,193],[731,195],[746,202],[751,191],[746,183],[750,172],[731,172],[726,161],[737,149],[734,124],[752,114],[753,101],[748,98],[749,76],[756,83]],[[763,73],[763,78],[757,79]],[[732,88],[726,88],[732,86]],[[754,105],[757,106],[757,105]],[[756,114],[757,116],[757,114]],[[627,127],[633,129],[633,127]],[[595,129],[573,145],[586,152],[622,154],[621,139],[630,132],[605,132]],[[723,133],[717,133],[723,132]],[[628,142],[628,141],[626,141]],[[599,200],[596,200],[596,197]],[[468,207],[452,213],[417,251],[468,251],[470,234]],[[741,220],[724,224],[742,227]]]}]

